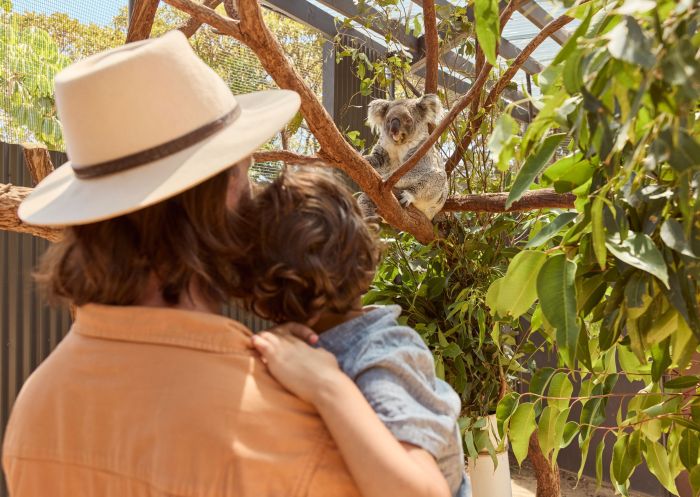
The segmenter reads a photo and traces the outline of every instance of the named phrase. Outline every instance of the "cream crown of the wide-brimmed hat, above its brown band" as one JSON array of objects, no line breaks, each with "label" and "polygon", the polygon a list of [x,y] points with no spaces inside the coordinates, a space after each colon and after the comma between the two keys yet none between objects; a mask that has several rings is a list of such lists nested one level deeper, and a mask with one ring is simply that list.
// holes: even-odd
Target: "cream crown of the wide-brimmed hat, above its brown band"
[{"label": "cream crown of the wide-brimmed hat, above its brown band", "polygon": [[56,77],[67,153],[84,167],[175,140],[236,106],[177,30],[88,57]]}]

